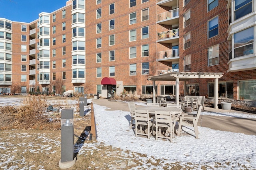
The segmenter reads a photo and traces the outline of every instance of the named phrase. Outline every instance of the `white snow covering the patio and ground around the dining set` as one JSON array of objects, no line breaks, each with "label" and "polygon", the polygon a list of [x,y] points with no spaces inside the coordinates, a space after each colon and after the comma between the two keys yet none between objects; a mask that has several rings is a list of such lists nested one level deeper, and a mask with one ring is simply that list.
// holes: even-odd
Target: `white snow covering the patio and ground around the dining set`
[{"label": "white snow covering the patio and ground around the dining set", "polygon": [[[54,104],[54,101],[49,102]],[[75,103],[76,101],[68,100],[68,102]],[[92,100],[88,99],[87,102],[90,103]],[[9,101],[8,99],[0,99],[0,106],[10,103],[18,105],[19,101],[18,99]],[[143,103],[136,104],[144,105]],[[184,127],[183,130],[192,135],[187,135],[185,132],[180,137],[175,135],[172,143],[164,140],[156,141],[154,137],[150,137],[150,139],[135,137],[134,130],[129,128],[130,112],[120,110],[106,111],[106,109],[104,106],[94,104],[98,143],[84,144],[81,146],[78,154],[83,154],[84,150],[93,149],[93,145],[102,145],[100,144],[102,142],[105,145],[112,145],[112,147],[146,154],[146,158],[138,157],[138,159],[144,159],[143,165],[134,167],[134,170],[143,167],[148,168],[147,160],[156,161],[158,159],[161,160],[161,165],[152,165],[150,169],[163,170],[163,165],[168,169],[168,164],[174,162],[178,162],[178,164],[186,167],[194,167],[196,165],[199,170],[206,165],[215,170],[256,169],[255,135],[198,127],[199,139],[196,139],[193,136],[194,129],[192,127]],[[256,118],[256,115],[252,114],[229,112],[209,113],[202,111],[202,114]],[[0,149],[4,149],[1,145],[3,143],[0,143]],[[130,154],[129,152],[124,152],[123,154],[124,156],[130,156],[128,155]],[[139,156],[139,154],[136,156]]]}]

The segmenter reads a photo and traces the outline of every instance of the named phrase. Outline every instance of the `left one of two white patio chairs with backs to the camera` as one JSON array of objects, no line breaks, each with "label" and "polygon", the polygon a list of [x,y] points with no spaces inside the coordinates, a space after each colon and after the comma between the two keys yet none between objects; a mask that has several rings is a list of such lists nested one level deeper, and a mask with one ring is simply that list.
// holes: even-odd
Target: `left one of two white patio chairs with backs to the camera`
[{"label": "left one of two white patio chairs with backs to the camera", "polygon": [[[149,113],[147,110],[135,110],[135,136],[144,135],[148,139],[150,137],[152,121],[150,121]],[[140,129],[138,129],[138,126]],[[147,130],[147,131],[146,131]]]}]

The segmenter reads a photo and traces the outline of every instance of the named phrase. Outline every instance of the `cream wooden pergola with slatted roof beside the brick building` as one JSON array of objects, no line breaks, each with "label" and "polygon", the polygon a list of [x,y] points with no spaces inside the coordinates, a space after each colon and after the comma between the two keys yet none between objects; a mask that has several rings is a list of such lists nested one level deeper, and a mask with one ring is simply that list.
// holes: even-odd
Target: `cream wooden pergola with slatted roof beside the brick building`
[{"label": "cream wooden pergola with slatted roof beside the brick building", "polygon": [[149,76],[148,80],[153,81],[153,103],[156,103],[156,81],[175,81],[176,82],[176,104],[179,104],[180,81],[184,81],[184,94],[186,94],[186,82],[194,78],[214,79],[214,108],[218,109],[218,79],[223,75],[222,72],[168,72],[157,76]]}]

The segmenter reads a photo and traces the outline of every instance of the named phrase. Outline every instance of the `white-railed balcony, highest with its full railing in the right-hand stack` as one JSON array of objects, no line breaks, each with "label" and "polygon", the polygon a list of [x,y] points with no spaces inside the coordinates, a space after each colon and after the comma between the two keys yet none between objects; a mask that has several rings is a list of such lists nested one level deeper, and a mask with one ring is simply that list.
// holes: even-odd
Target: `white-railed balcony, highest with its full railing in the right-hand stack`
[{"label": "white-railed balcony, highest with its full railing in the right-hand stack", "polygon": [[179,8],[166,11],[157,15],[157,23],[164,25],[173,25],[179,23]]}]

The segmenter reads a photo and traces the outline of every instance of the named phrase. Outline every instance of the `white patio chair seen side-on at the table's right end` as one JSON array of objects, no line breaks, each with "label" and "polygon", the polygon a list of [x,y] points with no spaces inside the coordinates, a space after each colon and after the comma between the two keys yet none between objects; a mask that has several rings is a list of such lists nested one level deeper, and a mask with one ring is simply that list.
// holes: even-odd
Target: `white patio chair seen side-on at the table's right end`
[{"label": "white patio chair seen side-on at the table's right end", "polygon": [[200,117],[200,113],[202,110],[202,105],[198,105],[198,110],[196,115],[195,114],[182,114],[179,119],[179,127],[177,136],[180,136],[180,132],[182,131],[182,126],[191,126],[195,129],[196,139],[198,139],[198,119]]}]

